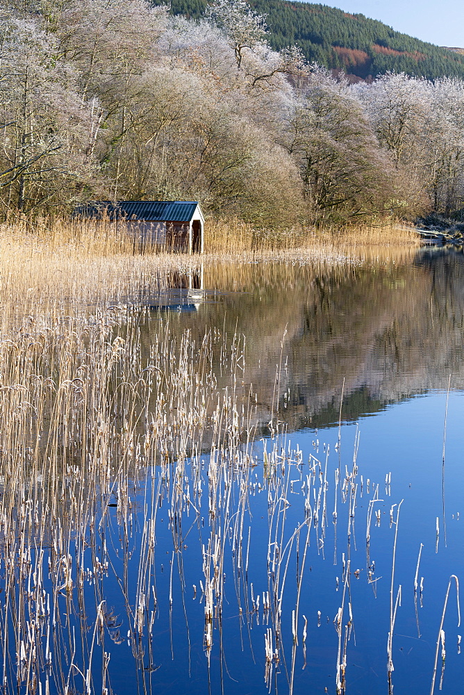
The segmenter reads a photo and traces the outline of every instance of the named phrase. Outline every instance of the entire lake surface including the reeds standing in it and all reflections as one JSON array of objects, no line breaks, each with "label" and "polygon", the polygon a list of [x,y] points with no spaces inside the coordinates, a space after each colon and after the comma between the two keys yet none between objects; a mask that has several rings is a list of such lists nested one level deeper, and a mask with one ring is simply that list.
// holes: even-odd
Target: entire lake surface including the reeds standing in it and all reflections
[{"label": "entire lake surface including the reeds standing in it and all reflections", "polygon": [[5,692],[422,692],[442,630],[454,691],[462,258],[210,263],[4,340]]}]

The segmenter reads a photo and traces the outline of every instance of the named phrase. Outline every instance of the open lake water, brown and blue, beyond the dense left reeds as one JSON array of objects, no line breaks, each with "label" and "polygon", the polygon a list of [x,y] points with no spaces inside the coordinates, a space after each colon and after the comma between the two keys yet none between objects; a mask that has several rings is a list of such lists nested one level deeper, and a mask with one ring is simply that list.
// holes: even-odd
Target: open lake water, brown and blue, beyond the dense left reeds
[{"label": "open lake water, brown and blue, beyond the dense left reeds", "polygon": [[[161,493],[176,461],[134,480],[126,518],[110,509],[99,530],[108,569],[85,583],[85,628],[76,599],[73,607],[89,644],[96,605],[106,602],[92,692],[103,687],[103,652],[105,687],[118,695],[430,692],[449,579],[464,580],[463,254],[423,250],[334,268],[218,266],[190,289],[188,279],[173,284],[147,300],[142,355],[160,322],[197,341],[208,330],[229,342],[240,336],[238,391],[252,389],[255,436],[239,447],[246,473],[245,458],[237,464],[227,448],[211,459],[205,436],[176,478],[178,516],[175,485]],[[215,370],[225,388],[219,357]],[[208,486],[218,461],[213,515]],[[210,540],[222,549],[222,612],[213,610],[208,634]],[[64,596],[60,607],[69,610]],[[453,583],[434,692],[441,678],[442,692],[462,690],[463,629]],[[72,682],[78,691],[75,673]]]}]

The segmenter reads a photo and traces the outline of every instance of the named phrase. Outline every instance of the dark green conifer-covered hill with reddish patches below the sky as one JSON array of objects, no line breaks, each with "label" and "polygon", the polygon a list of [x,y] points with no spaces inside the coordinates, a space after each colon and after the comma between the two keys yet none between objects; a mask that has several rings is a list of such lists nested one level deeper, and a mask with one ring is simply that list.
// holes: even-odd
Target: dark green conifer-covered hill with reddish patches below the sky
[{"label": "dark green conifer-covered hill with reddish patches below the sky", "polygon": [[[427,79],[464,78],[462,54],[393,31],[376,19],[288,0],[249,0],[249,4],[267,14],[268,40],[274,49],[297,44],[310,63],[342,68],[363,79],[388,70]],[[206,0],[171,0],[172,13],[194,18],[201,17],[206,5]]]}]

